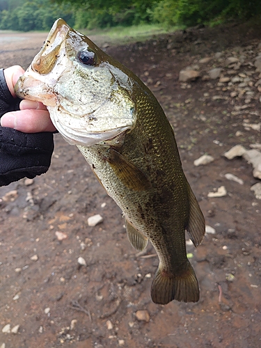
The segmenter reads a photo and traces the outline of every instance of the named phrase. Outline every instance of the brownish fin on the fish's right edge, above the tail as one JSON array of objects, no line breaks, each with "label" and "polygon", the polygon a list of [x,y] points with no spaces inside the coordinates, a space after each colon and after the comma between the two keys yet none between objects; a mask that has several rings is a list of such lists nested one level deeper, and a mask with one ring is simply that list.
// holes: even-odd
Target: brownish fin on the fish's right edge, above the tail
[{"label": "brownish fin on the fish's right edge, above the tail", "polygon": [[186,229],[194,246],[198,246],[202,242],[202,239],[205,235],[205,219],[198,205],[198,201],[196,200],[196,197],[194,196],[194,193],[191,190],[190,186],[189,203],[189,223]]}]

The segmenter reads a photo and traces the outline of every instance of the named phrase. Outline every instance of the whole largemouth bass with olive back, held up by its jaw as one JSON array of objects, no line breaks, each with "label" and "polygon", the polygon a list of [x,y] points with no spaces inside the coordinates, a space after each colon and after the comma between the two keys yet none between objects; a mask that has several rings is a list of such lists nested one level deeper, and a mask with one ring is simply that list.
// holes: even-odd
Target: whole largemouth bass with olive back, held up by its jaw
[{"label": "whole largemouth bass with olive back, held up by its jaw", "polygon": [[152,301],[197,302],[185,231],[198,246],[205,219],[184,175],[173,128],[150,89],[60,18],[15,93],[45,104],[58,132],[79,148],[122,210],[130,244],[143,251],[150,241],[155,248]]}]

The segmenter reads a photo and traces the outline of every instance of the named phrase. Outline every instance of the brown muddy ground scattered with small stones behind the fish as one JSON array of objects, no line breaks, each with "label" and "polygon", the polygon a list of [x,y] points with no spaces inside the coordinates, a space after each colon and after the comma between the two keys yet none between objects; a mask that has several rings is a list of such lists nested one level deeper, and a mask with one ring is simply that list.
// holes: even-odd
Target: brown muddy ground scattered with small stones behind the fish
[{"label": "brown muddy ground scattered with small stones behind the fish", "polygon": [[[1,33],[1,66],[26,68],[45,37]],[[55,134],[45,175],[0,188],[1,348],[261,346],[261,200],[250,190],[260,180],[246,160],[223,157],[233,145],[249,149],[261,142],[258,130],[244,127],[244,120],[260,122],[261,103],[254,98],[234,113],[238,108],[219,79],[178,81],[180,70],[200,58],[216,52],[239,56],[244,49],[251,54],[259,42],[261,26],[230,24],[129,46],[104,45],[148,84],[163,106],[206,224],[216,230],[197,249],[187,246],[200,301],[152,303],[155,251],[151,245],[145,253],[132,248],[120,209],[77,148]],[[251,69],[258,78],[251,65],[243,64],[240,71]],[[220,93],[227,97],[214,97]],[[205,153],[214,161],[194,166]],[[244,184],[227,180],[226,173]],[[226,196],[207,197],[221,186]],[[94,214],[103,222],[90,227],[87,219]],[[67,238],[59,241],[57,231]],[[86,266],[79,265],[79,257]],[[15,333],[3,332],[12,329]]]}]

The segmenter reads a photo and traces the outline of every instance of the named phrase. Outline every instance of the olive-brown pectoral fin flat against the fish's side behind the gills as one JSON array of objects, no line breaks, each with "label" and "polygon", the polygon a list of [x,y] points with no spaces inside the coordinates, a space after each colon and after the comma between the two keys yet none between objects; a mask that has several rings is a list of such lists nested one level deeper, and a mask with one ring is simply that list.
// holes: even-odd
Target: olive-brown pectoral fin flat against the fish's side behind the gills
[{"label": "olive-brown pectoral fin flat against the fish's side behind the gills", "polygon": [[110,150],[108,161],[114,173],[129,189],[143,191],[150,187],[146,175],[116,150]]}]

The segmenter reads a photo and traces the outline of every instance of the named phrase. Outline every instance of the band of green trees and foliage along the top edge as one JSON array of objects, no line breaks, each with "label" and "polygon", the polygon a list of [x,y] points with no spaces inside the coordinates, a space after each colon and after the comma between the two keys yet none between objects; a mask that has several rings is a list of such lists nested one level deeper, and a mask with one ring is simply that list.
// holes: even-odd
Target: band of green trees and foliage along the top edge
[{"label": "band of green trees and foliage along the top edge", "polygon": [[0,29],[49,30],[58,17],[76,29],[151,23],[169,28],[260,14],[260,0],[0,0]]}]

